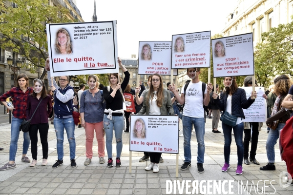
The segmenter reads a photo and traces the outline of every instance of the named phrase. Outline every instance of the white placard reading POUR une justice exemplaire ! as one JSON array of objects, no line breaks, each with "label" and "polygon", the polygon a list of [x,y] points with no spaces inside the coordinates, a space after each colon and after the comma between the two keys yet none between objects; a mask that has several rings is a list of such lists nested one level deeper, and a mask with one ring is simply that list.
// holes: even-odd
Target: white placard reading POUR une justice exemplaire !
[{"label": "white placard reading POUR une justice exemplaire !", "polygon": [[171,75],[171,44],[172,41],[139,41],[138,74]]}]

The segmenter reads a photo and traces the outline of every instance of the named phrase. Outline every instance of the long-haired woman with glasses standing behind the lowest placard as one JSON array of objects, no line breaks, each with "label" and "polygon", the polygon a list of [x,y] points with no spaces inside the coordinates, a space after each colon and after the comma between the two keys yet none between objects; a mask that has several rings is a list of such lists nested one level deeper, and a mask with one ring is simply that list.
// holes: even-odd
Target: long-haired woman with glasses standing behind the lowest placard
[{"label": "long-haired woman with glasses standing behind the lowest placard", "polygon": [[[174,115],[173,105],[171,102],[170,92],[164,89],[162,77],[154,74],[151,77],[149,90],[146,92],[144,104],[137,115]],[[145,168],[146,171],[153,170],[158,173],[160,157],[162,153],[148,153],[150,164]]]}]

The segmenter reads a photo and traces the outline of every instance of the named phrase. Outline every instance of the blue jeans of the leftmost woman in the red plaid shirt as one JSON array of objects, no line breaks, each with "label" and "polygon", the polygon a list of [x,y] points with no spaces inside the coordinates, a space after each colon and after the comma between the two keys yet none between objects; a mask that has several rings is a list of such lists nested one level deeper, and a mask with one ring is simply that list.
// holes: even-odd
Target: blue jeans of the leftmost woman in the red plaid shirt
[{"label": "blue jeans of the leftmost woman in the red plaid shirt", "polygon": [[[15,118],[12,116],[11,120],[11,132],[10,132],[10,148],[9,148],[9,161],[15,161],[15,156],[17,152],[17,142],[20,137],[20,126],[22,118]],[[30,139],[28,132],[23,133],[23,144],[22,144],[22,154],[26,155],[29,147]]]}]

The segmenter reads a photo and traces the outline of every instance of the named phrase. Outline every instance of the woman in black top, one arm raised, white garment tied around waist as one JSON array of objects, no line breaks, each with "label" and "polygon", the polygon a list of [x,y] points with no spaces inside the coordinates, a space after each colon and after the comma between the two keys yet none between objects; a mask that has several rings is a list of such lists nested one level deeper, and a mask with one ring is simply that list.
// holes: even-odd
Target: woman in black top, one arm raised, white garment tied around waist
[{"label": "woman in black top, one arm raised, white garment tied around waist", "polygon": [[122,65],[121,59],[118,58],[119,66],[124,72],[125,78],[120,84],[120,77],[117,73],[111,73],[109,77],[110,86],[103,87],[106,108],[104,112],[104,129],[106,135],[106,149],[108,154],[108,167],[113,167],[112,159],[112,140],[113,128],[116,138],[116,167],[121,166],[120,156],[122,153],[122,133],[124,127],[124,110],[126,110],[123,91],[129,82],[130,74]]}]

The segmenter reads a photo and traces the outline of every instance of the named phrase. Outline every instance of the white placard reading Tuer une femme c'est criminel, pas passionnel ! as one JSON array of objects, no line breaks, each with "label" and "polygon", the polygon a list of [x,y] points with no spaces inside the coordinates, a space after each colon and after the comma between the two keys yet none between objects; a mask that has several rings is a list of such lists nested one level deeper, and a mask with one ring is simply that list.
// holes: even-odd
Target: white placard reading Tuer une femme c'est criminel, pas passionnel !
[{"label": "white placard reading Tuer une femme c'est criminel, pas passionnel !", "polygon": [[172,35],[171,67],[210,67],[210,31]]}]

